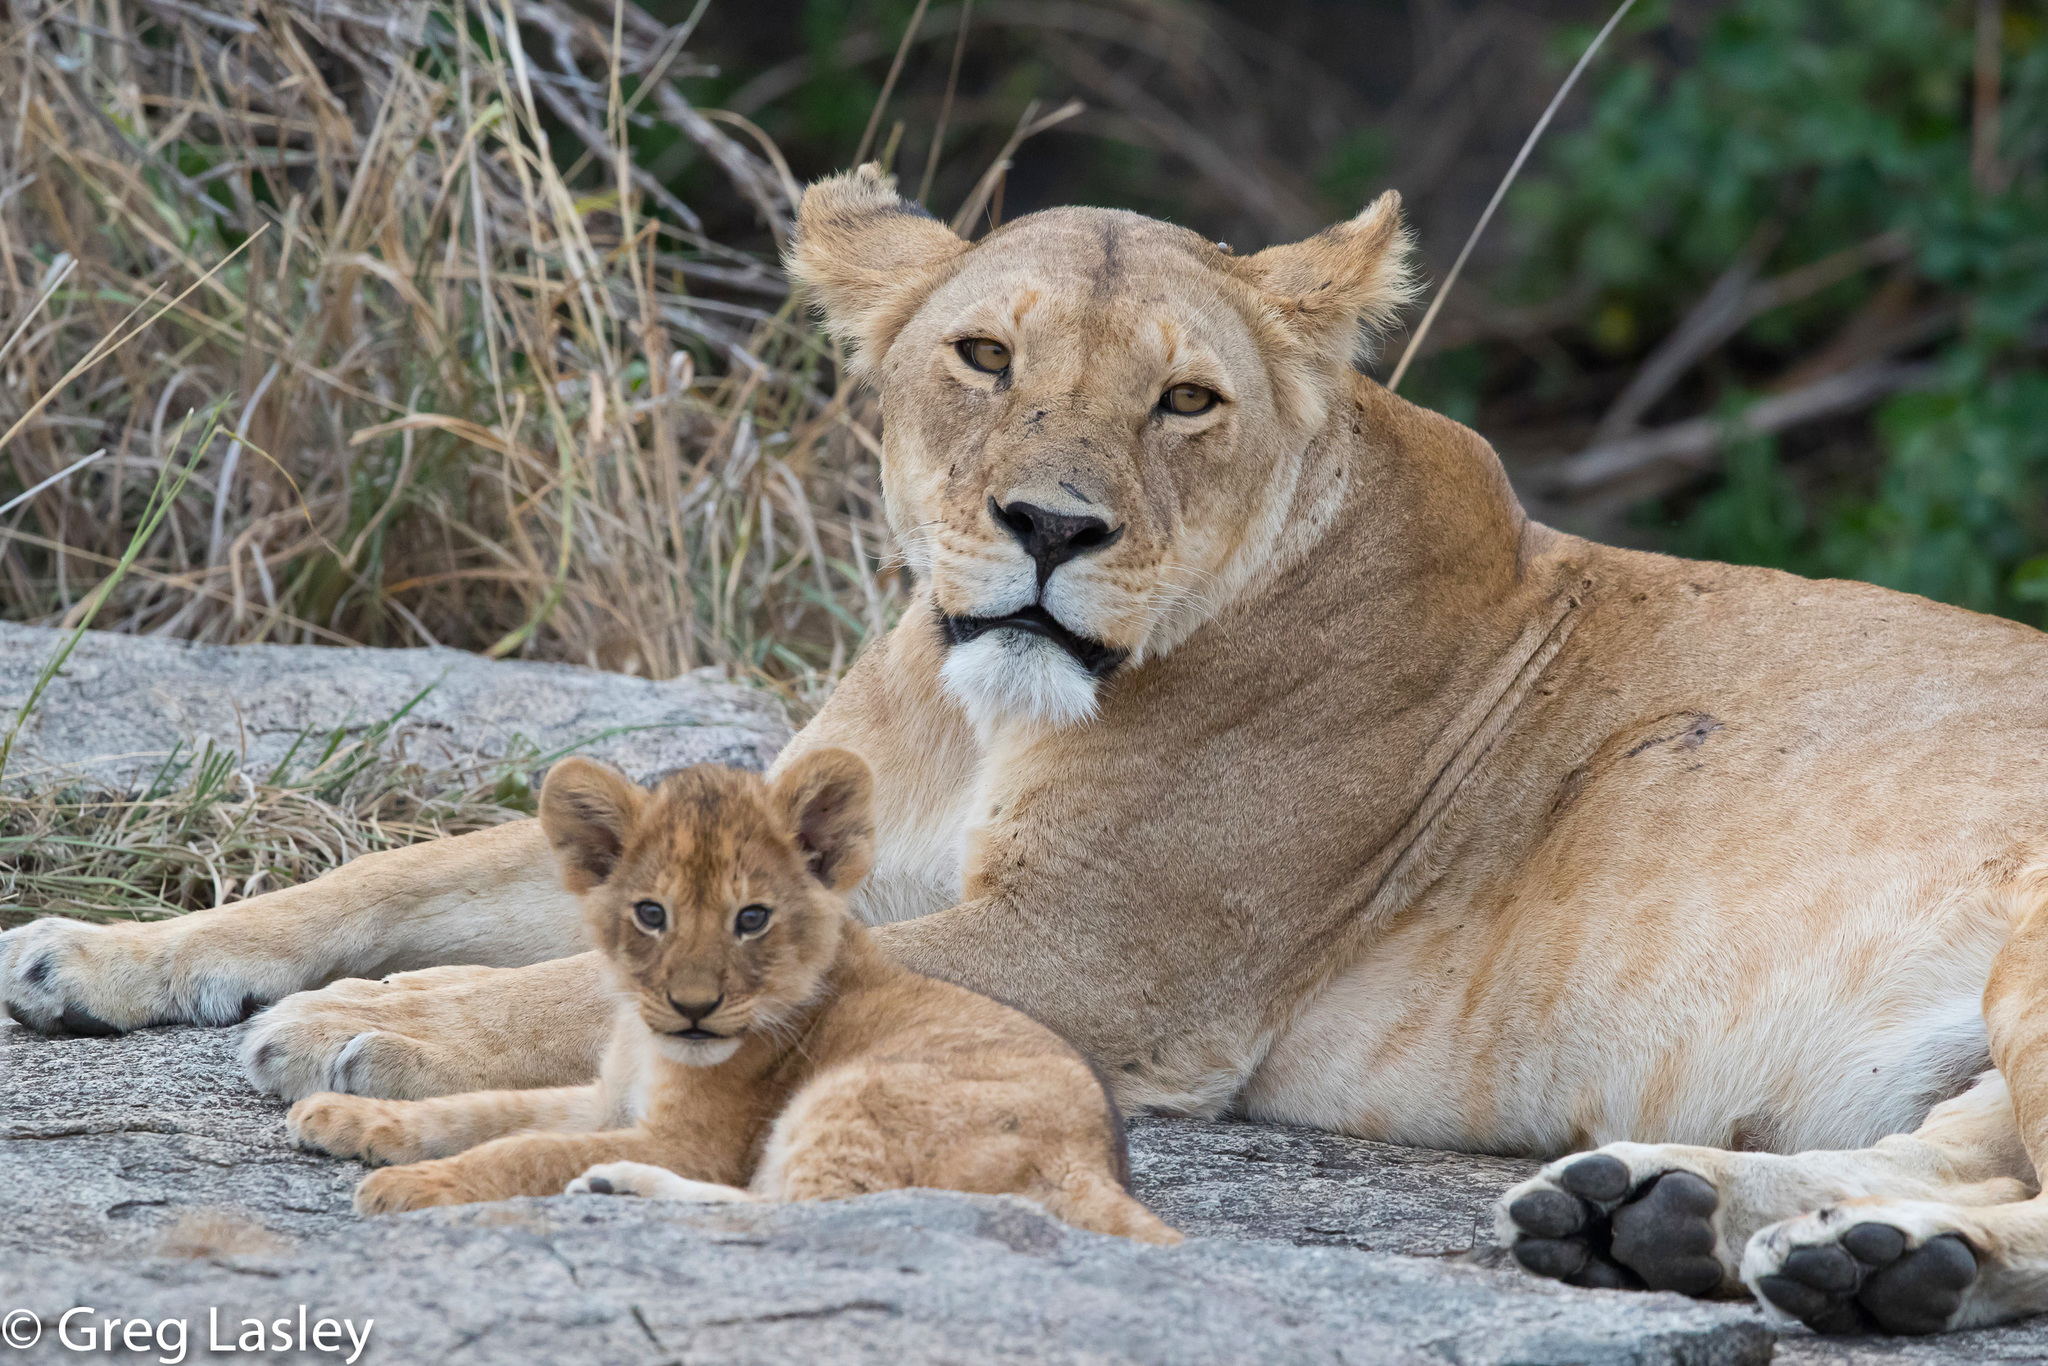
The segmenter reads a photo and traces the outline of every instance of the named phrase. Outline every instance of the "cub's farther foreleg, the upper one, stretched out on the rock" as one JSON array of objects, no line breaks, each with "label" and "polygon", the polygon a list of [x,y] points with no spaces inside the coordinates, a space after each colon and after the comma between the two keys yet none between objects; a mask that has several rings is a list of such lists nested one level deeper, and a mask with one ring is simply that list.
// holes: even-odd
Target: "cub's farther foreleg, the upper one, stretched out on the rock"
[{"label": "cub's farther foreleg, the upper one, stretched out on the rock", "polygon": [[524,1130],[571,1133],[606,1126],[596,1085],[547,1092],[473,1092],[434,1100],[307,1096],[285,1116],[299,1147],[352,1157],[373,1167],[453,1157]]}]

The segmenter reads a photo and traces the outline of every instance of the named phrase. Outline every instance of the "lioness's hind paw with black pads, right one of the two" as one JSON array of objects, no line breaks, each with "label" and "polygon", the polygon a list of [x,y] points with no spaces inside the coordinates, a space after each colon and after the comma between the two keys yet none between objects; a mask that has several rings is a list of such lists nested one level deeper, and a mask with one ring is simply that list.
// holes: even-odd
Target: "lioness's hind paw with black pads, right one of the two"
[{"label": "lioness's hind paw with black pads, right one of the two", "polygon": [[1757,1229],[1743,1282],[1817,1333],[1942,1333],[1968,1327],[1980,1264],[1939,1204],[1837,1204]]}]

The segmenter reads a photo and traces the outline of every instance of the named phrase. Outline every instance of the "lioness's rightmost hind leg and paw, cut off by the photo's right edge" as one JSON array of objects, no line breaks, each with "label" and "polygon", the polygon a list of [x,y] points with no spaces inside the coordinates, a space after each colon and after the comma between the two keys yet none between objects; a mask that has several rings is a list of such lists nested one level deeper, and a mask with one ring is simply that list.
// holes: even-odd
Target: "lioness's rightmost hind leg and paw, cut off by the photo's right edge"
[{"label": "lioness's rightmost hind leg and paw, cut off by the photo's right edge", "polygon": [[[1743,1255],[1743,1280],[1759,1298],[1823,1333],[1935,1333],[2048,1311],[2048,1196],[2038,1178],[2048,1163],[2048,905],[1993,961],[1985,1024],[2001,1090],[2011,1092],[2001,1139],[2023,1149],[2023,1190],[1997,1204],[1968,1198],[1976,1192],[1880,1190],[1788,1219],[1759,1231]],[[1935,1118],[1942,1110],[1929,1128]]]}]

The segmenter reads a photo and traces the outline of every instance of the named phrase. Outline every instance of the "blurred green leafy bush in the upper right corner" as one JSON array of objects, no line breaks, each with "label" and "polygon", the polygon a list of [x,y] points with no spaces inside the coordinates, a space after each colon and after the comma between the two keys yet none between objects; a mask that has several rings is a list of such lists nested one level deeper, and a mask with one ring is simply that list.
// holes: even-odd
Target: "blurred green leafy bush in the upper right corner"
[{"label": "blurred green leafy bush in the upper right corner", "polygon": [[1903,231],[1911,254],[1894,279],[1866,270],[1753,319],[1657,414],[1753,395],[1898,311],[1933,319],[1890,354],[1931,356],[1935,379],[1874,414],[1864,467],[1800,477],[1778,442],[1741,442],[1716,487],[1657,520],[1675,518],[1665,537],[1683,553],[2048,625],[2042,6],[2005,4],[1997,162],[1974,176],[1974,4],[1698,8],[1649,8],[1595,72],[1589,121],[1518,190],[1530,252],[1509,289],[1536,299],[1591,285],[1577,354],[1634,360],[1759,233],[1776,236],[1767,276]]}]

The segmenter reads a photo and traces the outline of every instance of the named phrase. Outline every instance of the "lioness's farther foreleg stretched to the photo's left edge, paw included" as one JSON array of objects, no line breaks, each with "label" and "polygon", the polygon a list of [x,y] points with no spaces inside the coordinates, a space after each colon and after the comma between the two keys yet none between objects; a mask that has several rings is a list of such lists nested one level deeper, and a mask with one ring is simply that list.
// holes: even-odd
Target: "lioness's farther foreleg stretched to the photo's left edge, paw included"
[{"label": "lioness's farther foreleg stretched to the photo's left edge, paw included", "polygon": [[33,1030],[233,1024],[336,977],[582,952],[541,821],[365,854],[326,877],[176,920],[37,920],[0,934],[0,1006]]}]

